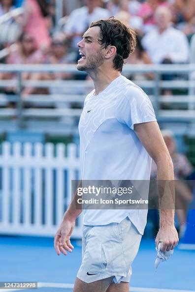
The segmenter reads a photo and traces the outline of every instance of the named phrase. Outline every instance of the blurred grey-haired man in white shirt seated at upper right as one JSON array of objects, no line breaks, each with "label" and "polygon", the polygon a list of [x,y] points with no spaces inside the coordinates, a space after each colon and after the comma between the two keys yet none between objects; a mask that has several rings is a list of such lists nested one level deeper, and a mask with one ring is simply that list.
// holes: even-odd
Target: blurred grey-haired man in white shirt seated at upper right
[{"label": "blurred grey-haired man in white shirt seated at upper right", "polygon": [[154,63],[185,63],[189,60],[189,44],[185,34],[171,27],[171,13],[167,7],[155,12],[157,29],[148,32],[142,45]]}]

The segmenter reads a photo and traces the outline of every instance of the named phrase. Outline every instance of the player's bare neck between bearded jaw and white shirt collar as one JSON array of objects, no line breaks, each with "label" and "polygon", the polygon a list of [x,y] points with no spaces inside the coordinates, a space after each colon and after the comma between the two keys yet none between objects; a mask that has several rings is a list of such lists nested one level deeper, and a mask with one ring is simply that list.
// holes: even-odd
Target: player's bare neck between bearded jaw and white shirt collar
[{"label": "player's bare neck between bearded jaw and white shirt collar", "polygon": [[102,92],[114,79],[121,76],[121,73],[116,70],[106,71],[98,69],[97,72],[89,72],[89,75],[94,82],[94,95],[97,95]]}]

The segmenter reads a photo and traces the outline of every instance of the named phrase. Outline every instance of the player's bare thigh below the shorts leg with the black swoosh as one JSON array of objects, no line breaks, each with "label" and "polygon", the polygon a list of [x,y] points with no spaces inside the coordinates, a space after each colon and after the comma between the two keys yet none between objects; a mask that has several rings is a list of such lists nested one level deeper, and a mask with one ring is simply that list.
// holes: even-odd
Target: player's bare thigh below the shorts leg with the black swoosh
[{"label": "player's bare thigh below the shorts leg with the black swoosh", "polygon": [[106,292],[113,278],[109,277],[92,283],[85,283],[76,278],[73,292]]}]

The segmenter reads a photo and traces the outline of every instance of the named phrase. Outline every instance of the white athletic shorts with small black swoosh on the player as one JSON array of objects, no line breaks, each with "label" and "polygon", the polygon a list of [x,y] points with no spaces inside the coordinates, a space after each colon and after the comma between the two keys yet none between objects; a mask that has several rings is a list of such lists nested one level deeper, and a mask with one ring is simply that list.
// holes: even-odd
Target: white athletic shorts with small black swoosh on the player
[{"label": "white athletic shorts with small black swoosh on the player", "polygon": [[82,263],[77,278],[86,283],[114,276],[113,282],[130,282],[141,241],[129,217],[120,223],[83,226]]}]

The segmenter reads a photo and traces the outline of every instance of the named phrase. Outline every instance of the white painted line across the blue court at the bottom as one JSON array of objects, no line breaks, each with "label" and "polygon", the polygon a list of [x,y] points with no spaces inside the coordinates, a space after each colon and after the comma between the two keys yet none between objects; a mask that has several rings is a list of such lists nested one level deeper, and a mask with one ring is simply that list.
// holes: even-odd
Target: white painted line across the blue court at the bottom
[{"label": "white painted line across the blue court at the bottom", "polygon": [[[68,283],[47,283],[38,282],[38,288],[48,287],[48,288],[66,288],[71,289],[74,284]],[[25,289],[0,289],[0,292],[12,292],[12,291],[24,291]],[[32,292],[36,289],[32,289]],[[159,288],[142,288],[142,287],[131,287],[130,292],[195,292],[194,290],[172,290],[172,289],[159,289]]]}]

